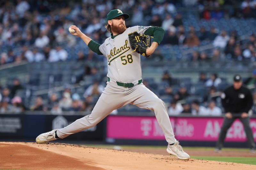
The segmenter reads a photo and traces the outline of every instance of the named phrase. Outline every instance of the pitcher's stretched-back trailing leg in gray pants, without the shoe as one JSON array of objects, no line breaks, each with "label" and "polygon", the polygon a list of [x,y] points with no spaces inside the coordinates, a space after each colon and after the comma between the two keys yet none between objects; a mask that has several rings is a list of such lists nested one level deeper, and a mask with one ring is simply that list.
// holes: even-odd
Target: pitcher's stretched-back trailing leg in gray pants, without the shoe
[{"label": "pitcher's stretched-back trailing leg in gray pants, without the shoe", "polygon": [[77,119],[65,128],[57,130],[57,136],[64,138],[73,133],[95,126],[113,110],[118,108],[121,100],[122,96],[120,94],[109,95],[102,93],[90,115]]}]

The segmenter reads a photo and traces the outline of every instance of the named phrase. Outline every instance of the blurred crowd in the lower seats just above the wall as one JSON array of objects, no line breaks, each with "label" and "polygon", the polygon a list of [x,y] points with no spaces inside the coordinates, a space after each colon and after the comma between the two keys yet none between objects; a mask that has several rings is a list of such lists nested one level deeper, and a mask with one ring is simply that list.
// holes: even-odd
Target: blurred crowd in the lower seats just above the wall
[{"label": "blurred crowd in the lower seats just above the wall", "polygon": [[[244,86],[255,87],[256,70],[253,70],[252,75],[252,77],[244,78]],[[168,107],[169,115],[188,113],[202,116],[220,116],[224,113],[220,105],[221,98],[217,92],[221,81],[221,78],[218,78],[217,74],[212,74],[210,78],[207,78],[206,74],[202,72],[200,73],[196,85],[203,85],[202,88],[206,90],[203,92],[203,89],[199,88],[197,92],[192,92],[192,88],[187,89],[186,85],[180,83],[178,78],[172,78],[168,71],[164,71],[161,82],[164,86],[160,91],[155,91],[154,84],[150,84],[147,79],[143,80],[143,84],[160,95],[160,98],[165,99],[164,101],[166,107]],[[174,88],[176,88],[176,90],[174,90]],[[29,106],[25,105],[22,98],[18,95],[19,90],[24,90],[19,79],[14,79],[12,85],[9,87],[2,88],[0,86],[0,114],[17,114],[24,111],[48,111],[52,114],[62,114],[63,111],[70,113],[76,111],[90,112],[104,90],[104,86],[99,84],[98,81],[94,81],[92,85],[89,85],[85,89],[83,96],[72,92],[72,90],[66,86],[61,93],[48,93],[47,99],[43,99],[40,95],[37,96]],[[253,92],[252,95],[252,113],[256,114],[256,92]],[[216,106],[216,104],[218,104],[218,106]],[[117,114],[117,111],[114,113]]]}]

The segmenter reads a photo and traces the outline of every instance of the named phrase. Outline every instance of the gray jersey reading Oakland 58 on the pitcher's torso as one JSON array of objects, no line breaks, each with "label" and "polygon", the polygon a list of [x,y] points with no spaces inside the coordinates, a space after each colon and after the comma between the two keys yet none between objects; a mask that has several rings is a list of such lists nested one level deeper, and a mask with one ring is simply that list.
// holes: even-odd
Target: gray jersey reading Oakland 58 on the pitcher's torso
[{"label": "gray jersey reading Oakland 58 on the pitcher's torso", "polygon": [[133,82],[141,79],[140,54],[131,48],[128,34],[134,31],[142,34],[149,27],[133,26],[114,39],[107,38],[100,45],[100,52],[108,59],[108,77],[118,82]]}]

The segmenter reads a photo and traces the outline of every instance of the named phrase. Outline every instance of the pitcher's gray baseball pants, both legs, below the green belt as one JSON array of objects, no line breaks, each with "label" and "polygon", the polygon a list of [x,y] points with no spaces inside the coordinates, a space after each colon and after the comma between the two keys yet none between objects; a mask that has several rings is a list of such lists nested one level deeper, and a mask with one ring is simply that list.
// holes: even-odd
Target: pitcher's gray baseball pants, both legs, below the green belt
[{"label": "pitcher's gray baseball pants, both legs, below the green belt", "polygon": [[77,119],[67,127],[59,129],[57,135],[60,138],[64,138],[73,133],[91,128],[109,115],[113,110],[127,104],[154,111],[157,122],[162,128],[168,144],[173,144],[177,141],[174,137],[172,125],[165,109],[164,102],[159,99],[156,94],[151,92],[143,84],[125,88],[118,86],[113,80],[107,82],[105,90],[101,94],[90,115]]}]

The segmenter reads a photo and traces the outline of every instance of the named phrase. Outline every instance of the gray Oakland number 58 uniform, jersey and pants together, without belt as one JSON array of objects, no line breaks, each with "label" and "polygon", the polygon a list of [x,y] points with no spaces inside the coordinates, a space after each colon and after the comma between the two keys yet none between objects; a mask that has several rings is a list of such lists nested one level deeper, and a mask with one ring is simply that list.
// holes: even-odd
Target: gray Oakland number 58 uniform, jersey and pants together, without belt
[{"label": "gray Oakland number 58 uniform, jersey and pants together, without belt", "polygon": [[[108,58],[108,82],[90,115],[76,120],[65,128],[57,130],[60,138],[95,126],[113,110],[132,104],[155,112],[157,122],[163,129],[166,141],[175,143],[172,125],[164,106],[164,102],[141,83],[140,54],[133,51],[128,34],[134,31],[144,33],[148,27],[133,26],[114,39],[107,38],[100,45],[100,52]],[[124,87],[120,84],[132,83],[134,86]],[[129,123],[129,122],[127,122]]]}]

